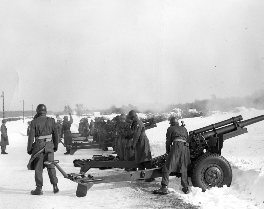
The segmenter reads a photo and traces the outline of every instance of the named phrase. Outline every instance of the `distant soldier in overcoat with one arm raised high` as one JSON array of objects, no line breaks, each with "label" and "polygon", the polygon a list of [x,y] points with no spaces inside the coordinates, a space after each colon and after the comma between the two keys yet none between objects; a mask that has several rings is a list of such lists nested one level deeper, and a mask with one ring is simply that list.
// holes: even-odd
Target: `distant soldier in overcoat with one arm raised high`
[{"label": "distant soldier in overcoat with one arm raised high", "polygon": [[[70,115],[70,121],[68,121],[68,116],[63,117],[63,122],[62,122],[62,131],[60,133],[60,138],[62,138],[62,135],[64,136],[64,144],[65,145],[71,145],[72,144],[72,132],[70,132],[70,126],[73,123],[72,119],[72,114],[69,113]],[[70,149],[66,147],[66,152],[64,155],[69,155],[70,154]]]}]

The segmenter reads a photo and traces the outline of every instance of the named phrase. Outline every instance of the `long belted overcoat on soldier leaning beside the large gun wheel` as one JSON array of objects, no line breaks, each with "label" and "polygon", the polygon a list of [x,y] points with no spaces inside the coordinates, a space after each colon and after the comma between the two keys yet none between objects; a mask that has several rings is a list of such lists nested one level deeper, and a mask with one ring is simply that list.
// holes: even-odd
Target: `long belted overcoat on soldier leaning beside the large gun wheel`
[{"label": "long belted overcoat on soldier leaning beside the large gun wheel", "polygon": [[191,163],[189,146],[185,142],[175,141],[175,138],[185,138],[189,143],[188,132],[185,127],[173,124],[167,129],[166,133],[166,151],[167,160],[163,165],[162,172],[186,173],[187,167]]}]

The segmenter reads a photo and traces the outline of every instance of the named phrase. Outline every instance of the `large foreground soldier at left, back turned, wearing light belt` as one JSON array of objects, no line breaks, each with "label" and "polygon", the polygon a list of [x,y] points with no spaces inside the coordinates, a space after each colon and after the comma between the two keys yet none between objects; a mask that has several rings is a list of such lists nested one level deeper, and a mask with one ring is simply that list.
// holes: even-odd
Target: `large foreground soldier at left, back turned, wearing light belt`
[{"label": "large foreground soldier at left, back turned, wearing light belt", "polygon": [[[31,120],[29,138],[27,141],[27,153],[31,155],[27,168],[35,170],[36,189],[30,193],[42,195],[43,168],[47,167],[53,192],[58,193],[58,178],[54,165],[44,165],[44,161],[53,161],[54,152],[58,150],[59,140],[55,119],[46,116],[47,108],[44,104],[37,105],[37,114]],[[35,142],[34,142],[35,137]],[[33,143],[34,142],[34,143]]]}]

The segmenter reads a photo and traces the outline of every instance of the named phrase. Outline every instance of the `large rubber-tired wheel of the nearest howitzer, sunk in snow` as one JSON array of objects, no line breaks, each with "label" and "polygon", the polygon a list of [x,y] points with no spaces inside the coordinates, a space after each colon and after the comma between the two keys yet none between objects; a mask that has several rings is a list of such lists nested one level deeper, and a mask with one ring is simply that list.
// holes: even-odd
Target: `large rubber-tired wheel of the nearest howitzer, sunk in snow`
[{"label": "large rubber-tired wheel of the nearest howitzer, sunk in snow", "polygon": [[228,187],[232,182],[232,168],[221,155],[209,153],[199,157],[193,165],[191,181],[204,192],[211,187]]}]

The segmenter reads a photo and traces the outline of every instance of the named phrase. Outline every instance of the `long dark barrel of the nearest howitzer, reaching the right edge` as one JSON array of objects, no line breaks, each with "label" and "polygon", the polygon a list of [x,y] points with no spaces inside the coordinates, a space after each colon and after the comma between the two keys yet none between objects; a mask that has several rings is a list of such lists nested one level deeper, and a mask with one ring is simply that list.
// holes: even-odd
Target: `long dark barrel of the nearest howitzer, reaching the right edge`
[{"label": "long dark barrel of the nearest howitzer, reaching the right edge", "polygon": [[[244,120],[244,121],[239,121],[237,123],[233,123],[232,125],[225,126],[225,127],[222,127],[222,128],[218,128],[215,131],[218,134],[225,134],[225,133],[229,133],[229,132],[237,130],[237,127],[239,127],[239,126],[241,128],[243,128],[243,127],[251,125],[253,123],[260,122],[262,120],[264,120],[264,115],[260,115],[260,116],[257,116],[255,118],[250,118],[250,119]],[[208,131],[208,132],[203,133],[205,140],[208,139],[210,136],[214,136],[216,134],[215,131]]]}]

